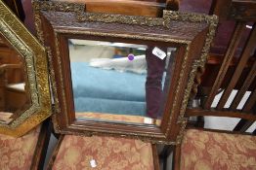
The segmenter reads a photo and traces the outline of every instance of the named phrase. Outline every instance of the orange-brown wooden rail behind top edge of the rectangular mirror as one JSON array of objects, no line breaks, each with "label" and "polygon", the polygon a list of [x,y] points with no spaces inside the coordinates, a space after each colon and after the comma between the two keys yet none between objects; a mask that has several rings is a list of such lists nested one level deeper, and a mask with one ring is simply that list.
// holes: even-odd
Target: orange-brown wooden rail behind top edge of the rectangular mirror
[{"label": "orange-brown wooden rail behind top edge of the rectangular mirror", "polygon": [[162,10],[177,11],[179,0],[65,0],[85,4],[88,13],[161,17]]}]

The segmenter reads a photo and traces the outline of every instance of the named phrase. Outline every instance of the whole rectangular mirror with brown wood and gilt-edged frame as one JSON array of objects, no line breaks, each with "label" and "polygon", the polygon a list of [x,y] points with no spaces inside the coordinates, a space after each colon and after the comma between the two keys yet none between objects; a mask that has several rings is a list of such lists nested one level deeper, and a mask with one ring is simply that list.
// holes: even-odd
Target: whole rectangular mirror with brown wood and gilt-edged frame
[{"label": "whole rectangular mirror with brown wood and gilt-edged frame", "polygon": [[[93,14],[84,4],[34,1],[63,134],[114,135],[175,144],[217,17]],[[181,117],[173,117],[180,112]]]}]

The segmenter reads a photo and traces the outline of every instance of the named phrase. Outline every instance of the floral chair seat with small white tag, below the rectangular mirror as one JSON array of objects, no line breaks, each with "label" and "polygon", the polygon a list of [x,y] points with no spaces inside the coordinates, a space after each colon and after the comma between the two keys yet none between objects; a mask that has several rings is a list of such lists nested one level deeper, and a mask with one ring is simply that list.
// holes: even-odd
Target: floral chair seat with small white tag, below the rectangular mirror
[{"label": "floral chair seat with small white tag, below the rectangular mirror", "polygon": [[65,135],[52,169],[153,170],[154,168],[149,143],[113,137]]}]

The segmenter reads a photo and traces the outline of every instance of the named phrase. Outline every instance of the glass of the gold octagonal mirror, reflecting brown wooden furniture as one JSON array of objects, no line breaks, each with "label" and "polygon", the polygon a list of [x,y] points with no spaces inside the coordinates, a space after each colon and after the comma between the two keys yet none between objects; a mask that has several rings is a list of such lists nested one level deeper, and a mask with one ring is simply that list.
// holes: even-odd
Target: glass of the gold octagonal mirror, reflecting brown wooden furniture
[{"label": "glass of the gold octagonal mirror, reflecting brown wooden furniture", "polygon": [[0,123],[19,118],[31,105],[25,62],[0,34]]}]

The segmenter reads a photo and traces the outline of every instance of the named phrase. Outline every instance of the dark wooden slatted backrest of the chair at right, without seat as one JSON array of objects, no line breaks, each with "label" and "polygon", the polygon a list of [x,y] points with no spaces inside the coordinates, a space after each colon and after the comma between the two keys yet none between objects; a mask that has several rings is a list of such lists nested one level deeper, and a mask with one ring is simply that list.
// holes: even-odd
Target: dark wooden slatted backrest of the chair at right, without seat
[{"label": "dark wooden slatted backrest of the chair at right, without seat", "polygon": [[[241,10],[240,8],[244,9]],[[222,88],[224,90],[224,93],[217,107],[215,108],[216,112],[225,111],[231,115],[236,115],[236,112],[238,112],[239,114],[253,114],[256,112],[254,107],[256,101],[256,3],[253,1],[231,2],[230,0],[226,0],[221,2],[215,0],[213,1],[213,6],[211,9],[212,10],[210,13],[218,15],[220,17],[221,23],[225,22],[227,18],[230,17],[230,20],[234,22],[235,28],[229,45],[227,47],[227,51],[224,54],[221,54],[222,57],[219,57],[219,61],[221,62],[217,64],[218,69],[216,69],[215,67],[215,71],[211,70],[211,73],[209,75],[210,69],[207,69],[207,67],[210,68],[210,66],[212,66],[213,64],[206,65],[206,72],[203,75],[202,79],[206,79],[206,77],[212,76],[212,79],[207,80],[211,82],[210,84],[212,86],[210,86],[210,88],[208,88],[206,91],[203,91],[202,88],[208,85],[205,84],[206,81],[202,81],[202,85],[200,85],[200,90],[203,91],[202,93],[204,93],[204,97],[200,98],[201,107],[204,110],[210,110],[214,97],[218,93],[219,89]],[[249,25],[252,25],[251,31],[248,28],[250,27]],[[216,62],[216,57],[215,59],[211,60],[214,54],[216,53],[211,54],[208,63],[212,61]],[[218,61],[216,63],[218,63]],[[232,104],[227,108],[225,107],[225,104],[234,89],[238,91]],[[249,99],[246,101],[246,104],[241,110],[236,109],[246,91],[251,91]],[[190,113],[191,111],[189,110],[188,112]],[[222,113],[220,113],[220,115],[221,114]],[[236,125],[235,131],[245,131],[252,123],[252,121],[249,122],[241,119],[240,122]]]}]

